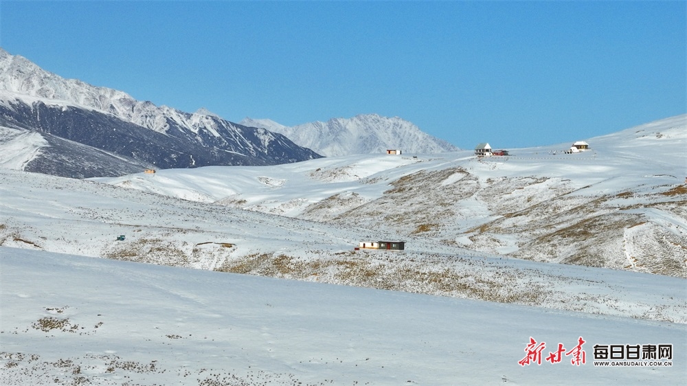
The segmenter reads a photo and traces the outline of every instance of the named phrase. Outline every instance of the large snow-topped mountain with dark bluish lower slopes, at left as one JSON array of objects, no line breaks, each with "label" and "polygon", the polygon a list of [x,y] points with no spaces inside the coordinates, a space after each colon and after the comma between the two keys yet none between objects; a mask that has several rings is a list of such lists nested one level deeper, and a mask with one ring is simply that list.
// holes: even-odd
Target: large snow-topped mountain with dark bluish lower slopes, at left
[{"label": "large snow-topped mountain with dark bluish lower slopes, at left", "polygon": [[[128,163],[128,172],[140,170],[141,165],[271,165],[320,157],[264,128],[234,124],[204,109],[185,113],[156,106],[122,91],[64,79],[1,48],[0,126],[39,133],[46,143],[51,142],[49,134],[93,148],[72,160],[72,165],[82,165],[78,170],[53,168],[65,177],[121,174],[120,168],[103,174],[106,167],[89,167],[98,166],[101,159],[93,155],[102,155],[103,150]],[[0,148],[8,141],[7,133],[0,136]],[[56,150],[41,147],[26,160],[25,170],[51,172],[41,165],[58,164],[64,154]],[[69,151],[80,152],[74,147]]]}]

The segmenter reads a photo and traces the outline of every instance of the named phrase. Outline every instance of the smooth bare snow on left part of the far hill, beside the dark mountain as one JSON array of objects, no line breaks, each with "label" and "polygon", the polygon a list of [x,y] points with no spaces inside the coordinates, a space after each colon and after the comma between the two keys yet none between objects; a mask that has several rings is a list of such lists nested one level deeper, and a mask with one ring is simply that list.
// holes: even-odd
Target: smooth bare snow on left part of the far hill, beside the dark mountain
[{"label": "smooth bare snow on left part of the far hill, beside the dark mountain", "polygon": [[[388,188],[386,183],[365,185],[361,181],[384,174],[384,180],[401,177],[408,172],[403,166],[421,168],[412,157],[391,155],[358,155],[318,159],[316,162],[289,163],[262,167],[208,166],[197,169],[159,170],[154,177],[131,174],[122,177],[96,178],[93,181],[111,183],[174,196],[214,203],[243,199],[245,209],[296,216],[308,203],[317,203],[334,193],[355,190],[372,197]],[[413,169],[410,169],[413,170]],[[390,175],[386,175],[389,174]],[[275,182],[278,181],[278,182]],[[302,205],[285,208],[284,203],[302,201]],[[257,209],[256,209],[257,210]]]}]

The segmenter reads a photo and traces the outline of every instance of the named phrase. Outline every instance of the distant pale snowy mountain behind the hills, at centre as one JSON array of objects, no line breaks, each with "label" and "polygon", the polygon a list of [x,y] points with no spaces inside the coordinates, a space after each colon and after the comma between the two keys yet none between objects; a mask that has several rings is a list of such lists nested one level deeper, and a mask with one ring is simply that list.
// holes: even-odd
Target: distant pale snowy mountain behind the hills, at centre
[{"label": "distant pale snowy mountain behind the hills, at centre", "polygon": [[327,122],[311,122],[291,127],[271,120],[252,118],[245,118],[241,124],[281,133],[296,144],[326,157],[379,154],[387,149],[398,149],[407,154],[458,150],[447,141],[424,133],[411,122],[399,117],[382,117],[376,114],[332,118]]}]

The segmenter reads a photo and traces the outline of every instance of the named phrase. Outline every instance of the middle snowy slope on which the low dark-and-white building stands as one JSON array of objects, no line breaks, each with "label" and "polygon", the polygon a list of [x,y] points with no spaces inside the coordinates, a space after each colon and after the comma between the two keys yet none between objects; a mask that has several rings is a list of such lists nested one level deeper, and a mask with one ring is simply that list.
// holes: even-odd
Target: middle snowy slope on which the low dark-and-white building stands
[{"label": "middle snowy slope on which the low dark-and-white building stands", "polygon": [[[219,188],[206,181],[200,177],[196,183]],[[504,260],[423,235],[405,238],[407,247],[398,253],[354,251],[360,240],[401,236],[391,230],[275,216],[122,185],[0,170],[0,245],[687,323],[687,307],[679,297],[661,299],[663,306],[655,308],[652,304],[659,298],[647,304],[635,299],[640,290],[616,282],[612,275],[592,280],[589,275],[600,273],[586,268]],[[188,189],[188,182],[183,189]],[[120,235],[124,240],[116,240]],[[612,289],[603,290],[607,296],[600,297],[598,291],[606,286]]]}]

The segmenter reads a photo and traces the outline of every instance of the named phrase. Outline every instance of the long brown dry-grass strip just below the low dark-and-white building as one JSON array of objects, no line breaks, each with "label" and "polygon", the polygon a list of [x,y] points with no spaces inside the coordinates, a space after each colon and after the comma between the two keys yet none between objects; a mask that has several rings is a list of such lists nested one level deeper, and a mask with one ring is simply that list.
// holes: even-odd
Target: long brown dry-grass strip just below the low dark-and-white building
[{"label": "long brown dry-grass strip just below the low dark-and-white building", "polygon": [[[404,260],[394,254],[377,258],[376,253],[341,252],[334,258],[302,260],[272,253],[253,254],[225,262],[216,271],[312,280],[393,291],[468,297],[489,302],[541,304],[549,291],[538,284],[514,286],[516,273],[469,275],[451,268],[434,269],[427,262]],[[401,261],[393,261],[396,258]],[[394,264],[390,264],[394,262]]]}]

